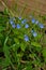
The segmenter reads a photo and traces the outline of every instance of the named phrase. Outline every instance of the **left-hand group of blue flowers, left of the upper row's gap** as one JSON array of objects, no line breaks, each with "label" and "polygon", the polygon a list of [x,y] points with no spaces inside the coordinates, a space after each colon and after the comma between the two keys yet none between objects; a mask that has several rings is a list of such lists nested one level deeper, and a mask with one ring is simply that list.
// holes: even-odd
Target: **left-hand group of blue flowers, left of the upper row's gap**
[{"label": "left-hand group of blue flowers, left of the upper row's gap", "polygon": [[[21,17],[18,17],[18,19],[21,20]],[[21,24],[25,24],[26,22],[27,22],[27,19],[22,19],[22,20],[21,20]],[[17,29],[21,28],[21,26],[20,26],[19,24],[16,25],[16,24],[14,23],[14,18],[11,18],[11,19],[10,19],[10,24],[12,25],[13,28],[17,28]],[[25,28],[29,28],[29,25],[26,24],[26,25],[25,25]]]}]

